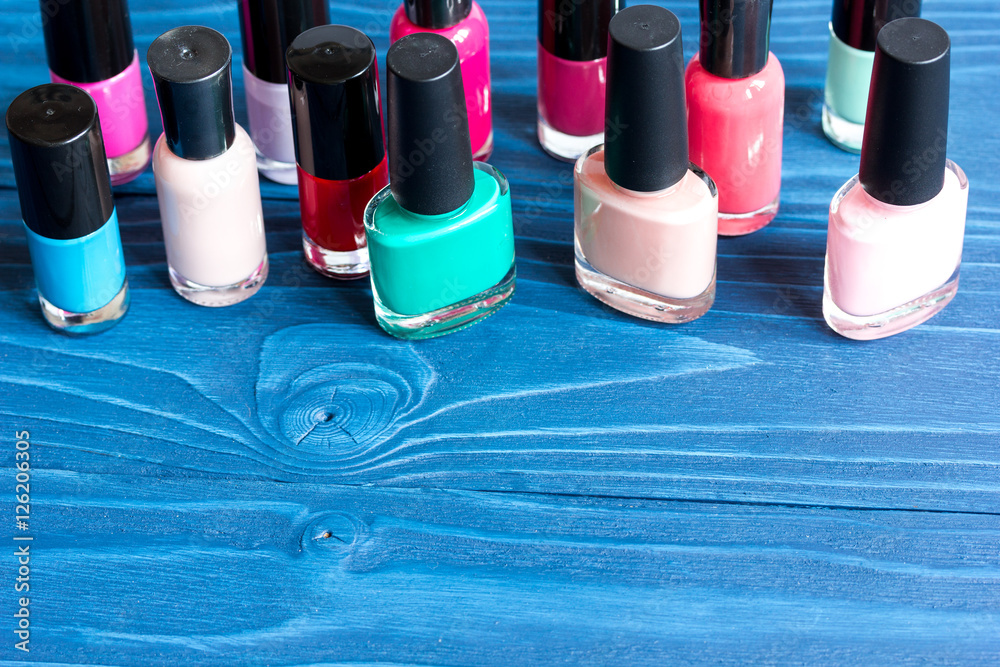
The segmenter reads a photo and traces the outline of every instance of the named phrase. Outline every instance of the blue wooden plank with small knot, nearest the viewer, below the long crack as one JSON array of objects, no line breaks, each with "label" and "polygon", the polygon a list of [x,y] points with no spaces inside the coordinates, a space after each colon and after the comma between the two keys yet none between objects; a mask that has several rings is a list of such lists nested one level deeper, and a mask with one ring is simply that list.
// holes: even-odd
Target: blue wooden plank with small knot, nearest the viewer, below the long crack
[{"label": "blue wooden plank with small knot, nearest the viewer, below the long crack", "polygon": [[916,664],[1000,656],[996,515],[137,485],[55,471],[37,483],[39,660]]}]

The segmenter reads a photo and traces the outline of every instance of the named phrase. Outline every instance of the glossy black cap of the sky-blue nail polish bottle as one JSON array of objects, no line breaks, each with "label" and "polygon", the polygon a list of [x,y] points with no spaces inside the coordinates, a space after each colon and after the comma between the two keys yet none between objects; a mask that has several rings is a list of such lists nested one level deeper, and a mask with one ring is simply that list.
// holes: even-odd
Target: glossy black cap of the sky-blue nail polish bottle
[{"label": "glossy black cap of the sky-blue nail polish bottle", "polygon": [[75,86],[46,83],[7,108],[10,159],[31,231],[76,239],[100,229],[115,204],[97,105]]}]

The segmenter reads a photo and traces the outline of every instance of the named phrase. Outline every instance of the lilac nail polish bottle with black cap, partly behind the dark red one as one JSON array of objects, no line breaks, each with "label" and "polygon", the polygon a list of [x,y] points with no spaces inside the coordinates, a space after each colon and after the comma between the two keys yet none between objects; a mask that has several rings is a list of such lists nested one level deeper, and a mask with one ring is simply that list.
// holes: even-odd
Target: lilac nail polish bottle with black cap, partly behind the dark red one
[{"label": "lilac nail polish bottle with black cap, partly behind the dark red one", "polygon": [[299,34],[330,22],[326,0],[239,0],[239,10],[243,85],[257,168],[275,183],[295,185],[285,51]]}]

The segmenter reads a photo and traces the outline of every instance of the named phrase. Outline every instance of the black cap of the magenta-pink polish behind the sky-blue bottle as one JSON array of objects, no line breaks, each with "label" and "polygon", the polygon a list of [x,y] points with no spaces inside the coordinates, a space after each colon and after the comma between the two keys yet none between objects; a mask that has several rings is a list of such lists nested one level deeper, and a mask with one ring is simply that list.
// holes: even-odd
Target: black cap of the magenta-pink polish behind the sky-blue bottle
[{"label": "black cap of the magenta-pink polish behind the sky-blue bottle", "polygon": [[104,81],[132,64],[125,0],[40,0],[49,69],[74,83]]}]

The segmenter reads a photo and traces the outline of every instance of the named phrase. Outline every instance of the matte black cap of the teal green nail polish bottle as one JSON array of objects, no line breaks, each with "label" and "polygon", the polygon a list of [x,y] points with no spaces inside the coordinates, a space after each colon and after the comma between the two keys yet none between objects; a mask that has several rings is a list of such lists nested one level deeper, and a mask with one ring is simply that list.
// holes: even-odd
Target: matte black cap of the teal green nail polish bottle
[{"label": "matte black cap of the teal green nail polish bottle", "polygon": [[458,49],[418,32],[389,47],[385,60],[392,194],[411,213],[454,211],[475,190]]}]

